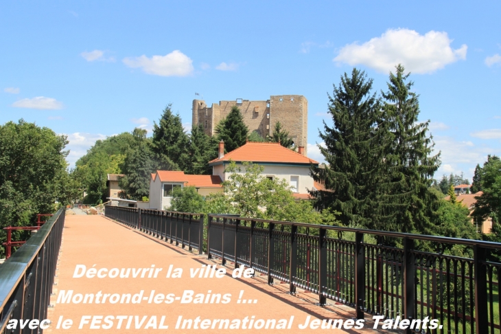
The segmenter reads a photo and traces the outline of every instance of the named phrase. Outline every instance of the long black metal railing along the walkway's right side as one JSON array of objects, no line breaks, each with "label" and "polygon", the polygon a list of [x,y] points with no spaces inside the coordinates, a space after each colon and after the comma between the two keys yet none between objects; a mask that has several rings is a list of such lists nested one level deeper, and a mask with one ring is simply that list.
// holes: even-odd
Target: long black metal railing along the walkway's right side
[{"label": "long black metal railing along the walkway's right side", "polygon": [[[183,244],[185,231],[197,221],[198,245],[206,245],[199,249],[207,249],[209,258],[251,267],[269,283],[287,282],[291,293],[296,287],[316,293],[320,304],[329,299],[351,306],[359,319],[366,313],[408,319],[420,333],[501,332],[501,263],[487,260],[501,243],[216,214],[208,215],[202,241],[202,214],[117,207],[109,212],[110,218]],[[436,249],[463,245],[473,256],[423,252],[417,243]],[[426,329],[427,317],[442,327]]]}]

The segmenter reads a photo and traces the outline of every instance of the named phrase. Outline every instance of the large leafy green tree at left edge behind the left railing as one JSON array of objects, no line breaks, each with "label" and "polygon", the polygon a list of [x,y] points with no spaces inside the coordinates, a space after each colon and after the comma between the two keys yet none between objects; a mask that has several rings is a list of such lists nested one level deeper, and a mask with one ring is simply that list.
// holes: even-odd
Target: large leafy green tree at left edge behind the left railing
[{"label": "large leafy green tree at left edge behind the left railing", "polygon": [[[78,185],[67,172],[67,144],[66,136],[24,120],[0,126],[0,243],[3,227],[32,225],[36,214],[53,213],[75,199]],[[3,252],[0,247],[0,256]]]}]

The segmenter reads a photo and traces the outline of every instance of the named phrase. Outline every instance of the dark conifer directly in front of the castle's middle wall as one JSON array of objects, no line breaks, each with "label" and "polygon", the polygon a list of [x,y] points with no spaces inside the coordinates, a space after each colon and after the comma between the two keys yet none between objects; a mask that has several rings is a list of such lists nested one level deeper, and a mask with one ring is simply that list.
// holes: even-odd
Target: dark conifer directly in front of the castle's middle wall
[{"label": "dark conifer directly in front of the castle's middle wall", "polygon": [[243,146],[247,142],[248,127],[237,106],[231,107],[231,111],[215,126],[218,141],[224,141],[224,149],[227,152]]}]

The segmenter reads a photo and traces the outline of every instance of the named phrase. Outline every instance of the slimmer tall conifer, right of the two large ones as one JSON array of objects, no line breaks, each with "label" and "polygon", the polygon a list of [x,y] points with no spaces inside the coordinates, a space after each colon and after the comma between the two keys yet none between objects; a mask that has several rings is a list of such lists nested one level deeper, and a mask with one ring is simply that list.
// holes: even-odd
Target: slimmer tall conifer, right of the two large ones
[{"label": "slimmer tall conifer, right of the two large ones", "polygon": [[418,122],[419,96],[411,91],[414,82],[409,76],[397,65],[395,74],[390,73],[388,91],[382,92],[384,119],[393,138],[385,159],[391,186],[384,189],[388,194],[386,210],[393,214],[388,212],[392,221],[385,224],[393,231],[426,233],[438,208],[438,199],[429,188],[440,166],[440,153],[432,155],[429,121]]}]

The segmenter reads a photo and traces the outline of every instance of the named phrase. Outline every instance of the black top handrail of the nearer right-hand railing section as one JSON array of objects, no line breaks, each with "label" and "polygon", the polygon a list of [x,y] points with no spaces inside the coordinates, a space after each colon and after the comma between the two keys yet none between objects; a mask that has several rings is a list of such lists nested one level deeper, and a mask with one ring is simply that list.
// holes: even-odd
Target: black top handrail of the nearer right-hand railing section
[{"label": "black top handrail of the nearer right-hand railing section", "polygon": [[363,234],[373,234],[379,236],[393,236],[395,238],[412,238],[415,240],[422,241],[436,241],[439,243],[454,243],[460,245],[468,245],[468,246],[482,246],[489,247],[495,249],[501,249],[501,243],[494,243],[491,241],[482,241],[482,240],[474,240],[474,239],[463,239],[463,238],[451,238],[449,236],[430,236],[427,234],[412,234],[412,233],[404,233],[404,232],[390,232],[390,231],[380,231],[380,230],[367,230],[363,228],[357,227],[343,227],[343,226],[331,226],[331,225],[321,225],[321,224],[310,224],[310,223],[297,223],[293,221],[271,221],[268,219],[257,219],[257,218],[246,218],[246,217],[235,217],[235,216],[225,216],[221,214],[207,214],[209,217],[220,218],[220,219],[238,219],[240,221],[255,221],[256,223],[272,223],[275,225],[294,225],[298,227],[310,227],[310,228],[318,228],[325,230],[334,230],[341,232],[360,232]]}]

